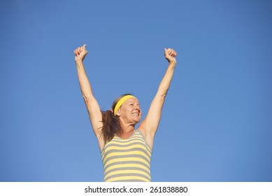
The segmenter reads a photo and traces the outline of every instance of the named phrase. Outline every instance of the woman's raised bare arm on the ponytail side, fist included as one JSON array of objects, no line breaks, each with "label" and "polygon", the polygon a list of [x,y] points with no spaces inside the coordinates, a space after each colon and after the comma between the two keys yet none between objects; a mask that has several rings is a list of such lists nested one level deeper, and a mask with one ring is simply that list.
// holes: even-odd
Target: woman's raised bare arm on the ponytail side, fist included
[{"label": "woman's raised bare arm on the ponytail side, fist included", "polygon": [[92,93],[92,87],[87,78],[85,72],[83,60],[87,55],[86,45],[76,48],[74,51],[76,68],[78,71],[78,80],[80,83],[80,90],[83,94],[83,99],[89,113],[89,118],[92,123],[92,129],[96,135],[97,140],[99,141],[99,148],[102,149],[104,146],[104,141],[101,136],[101,127],[102,124],[102,113],[99,107],[98,102],[96,101],[94,94]]}]

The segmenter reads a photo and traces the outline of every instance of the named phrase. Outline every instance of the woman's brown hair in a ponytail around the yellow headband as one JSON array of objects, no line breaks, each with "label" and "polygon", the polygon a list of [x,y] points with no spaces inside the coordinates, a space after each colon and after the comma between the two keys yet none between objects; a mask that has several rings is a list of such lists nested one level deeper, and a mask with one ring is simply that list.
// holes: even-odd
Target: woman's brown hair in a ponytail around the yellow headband
[{"label": "woman's brown hair in a ponytail around the yellow headband", "polygon": [[114,116],[113,111],[117,102],[119,102],[119,100],[122,99],[122,97],[126,95],[132,95],[132,94],[122,94],[120,97],[115,99],[115,101],[113,102],[113,105],[111,106],[111,110],[102,111],[103,127],[101,129],[101,136],[103,137],[105,144],[108,141],[112,140],[115,135],[120,137],[123,133],[119,116]]}]

